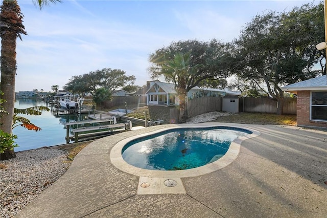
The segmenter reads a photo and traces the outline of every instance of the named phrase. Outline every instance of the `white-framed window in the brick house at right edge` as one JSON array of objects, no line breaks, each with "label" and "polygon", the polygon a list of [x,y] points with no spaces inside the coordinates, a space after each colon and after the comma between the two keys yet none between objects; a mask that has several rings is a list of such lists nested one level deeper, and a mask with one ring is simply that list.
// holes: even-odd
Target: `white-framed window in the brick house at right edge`
[{"label": "white-framed window in the brick house at right edge", "polygon": [[327,92],[311,92],[311,120],[327,121]]}]

